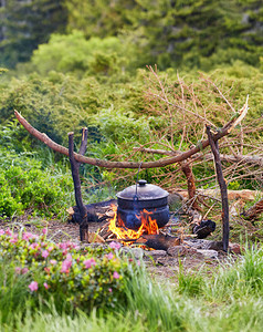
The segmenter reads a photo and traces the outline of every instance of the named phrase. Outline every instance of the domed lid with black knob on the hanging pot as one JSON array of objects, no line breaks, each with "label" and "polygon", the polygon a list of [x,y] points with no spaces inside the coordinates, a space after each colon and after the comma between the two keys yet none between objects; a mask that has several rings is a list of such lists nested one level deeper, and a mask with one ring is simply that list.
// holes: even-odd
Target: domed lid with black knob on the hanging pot
[{"label": "domed lid with black knob on the hanging pot", "polygon": [[[151,200],[165,198],[169,195],[168,191],[161,189],[158,186],[149,185],[146,180],[140,179],[137,184],[137,197],[138,200]],[[136,199],[136,185],[127,187],[116,195],[120,199],[134,200]]]}]

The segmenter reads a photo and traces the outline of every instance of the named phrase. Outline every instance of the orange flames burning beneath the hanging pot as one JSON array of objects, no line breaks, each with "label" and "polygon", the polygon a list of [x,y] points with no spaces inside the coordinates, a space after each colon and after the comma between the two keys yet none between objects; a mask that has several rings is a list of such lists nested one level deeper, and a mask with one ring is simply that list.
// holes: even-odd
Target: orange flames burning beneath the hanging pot
[{"label": "orange flames burning beneath the hanging pot", "polygon": [[138,239],[141,237],[141,235],[147,234],[159,234],[159,228],[155,219],[151,219],[150,214],[146,209],[144,209],[140,212],[140,216],[136,216],[138,219],[141,220],[141,225],[138,230],[133,230],[127,227],[125,227],[124,222],[118,220],[118,224],[122,224],[116,226],[116,220],[117,220],[117,207],[113,206],[114,210],[114,218],[109,221],[108,229],[117,236],[117,239]]}]

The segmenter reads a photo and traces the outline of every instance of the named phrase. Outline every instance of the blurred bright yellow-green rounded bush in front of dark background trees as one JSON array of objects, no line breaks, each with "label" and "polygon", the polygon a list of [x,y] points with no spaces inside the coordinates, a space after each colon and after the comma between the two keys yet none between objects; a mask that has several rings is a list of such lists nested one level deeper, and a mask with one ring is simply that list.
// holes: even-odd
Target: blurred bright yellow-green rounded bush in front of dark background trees
[{"label": "blurred bright yellow-green rounded bush in front of dark background trees", "polygon": [[125,61],[127,63],[125,51],[120,40],[115,37],[86,40],[83,32],[73,31],[69,35],[52,34],[48,44],[34,51],[31,61],[41,74],[54,70],[78,75],[85,72],[109,75],[119,72]]}]

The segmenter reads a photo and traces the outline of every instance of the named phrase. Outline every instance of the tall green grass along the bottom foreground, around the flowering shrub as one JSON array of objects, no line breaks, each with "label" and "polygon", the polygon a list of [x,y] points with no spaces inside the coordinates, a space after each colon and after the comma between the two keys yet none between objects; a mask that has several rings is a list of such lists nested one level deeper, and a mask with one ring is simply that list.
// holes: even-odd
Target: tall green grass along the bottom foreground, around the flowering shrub
[{"label": "tall green grass along the bottom foreground, around the flowering shrub", "polygon": [[1,269],[1,286],[4,274],[6,281],[12,281],[8,284],[12,291],[0,298],[0,331],[260,332],[263,326],[262,248],[248,249],[238,261],[229,259],[210,277],[181,269],[175,276],[177,286],[169,281],[160,286],[143,268],[126,283],[125,303],[113,312],[97,308],[90,314],[57,313],[51,302],[38,311],[33,303],[21,305],[24,284],[15,284],[4,271]]}]

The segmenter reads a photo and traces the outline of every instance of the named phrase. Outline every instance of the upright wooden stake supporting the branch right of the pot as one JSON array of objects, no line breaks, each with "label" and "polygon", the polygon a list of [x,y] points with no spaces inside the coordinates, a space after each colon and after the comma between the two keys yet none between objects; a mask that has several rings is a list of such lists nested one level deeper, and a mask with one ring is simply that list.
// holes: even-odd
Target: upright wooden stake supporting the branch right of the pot
[{"label": "upright wooden stake supporting the branch right of the pot", "polygon": [[222,221],[223,221],[223,250],[228,251],[229,249],[229,199],[228,199],[228,187],[225,179],[223,178],[222,165],[220,160],[219,146],[218,142],[214,142],[214,138],[211,134],[210,127],[207,125],[207,134],[211,151],[213,153],[214,165],[217,170],[218,183],[221,193],[222,200]]}]

